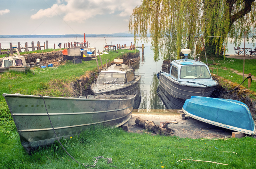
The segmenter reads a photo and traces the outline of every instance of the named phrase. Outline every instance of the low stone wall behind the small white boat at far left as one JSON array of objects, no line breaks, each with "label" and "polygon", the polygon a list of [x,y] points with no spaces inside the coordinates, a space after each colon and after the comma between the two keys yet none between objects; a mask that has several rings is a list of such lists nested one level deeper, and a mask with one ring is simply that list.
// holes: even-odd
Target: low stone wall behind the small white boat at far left
[{"label": "low stone wall behind the small white boat at far left", "polygon": [[[26,63],[28,62],[36,62],[36,59],[40,59],[40,62],[42,62],[42,54],[41,53],[32,53],[32,54],[26,54],[22,55],[25,57]],[[62,58],[62,50],[53,51],[53,52],[46,52],[43,53],[43,61],[44,62],[51,62],[53,60],[61,59]]]}]

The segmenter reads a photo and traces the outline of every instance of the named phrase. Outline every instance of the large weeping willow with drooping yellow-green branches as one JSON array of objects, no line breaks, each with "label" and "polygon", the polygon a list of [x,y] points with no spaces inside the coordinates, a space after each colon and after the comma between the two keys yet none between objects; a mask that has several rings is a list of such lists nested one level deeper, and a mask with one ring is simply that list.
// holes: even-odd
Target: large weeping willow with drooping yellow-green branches
[{"label": "large weeping willow with drooping yellow-green branches", "polygon": [[[149,42],[154,59],[164,59],[175,54],[179,57],[181,48],[194,48],[194,36],[204,37],[207,53],[220,54],[224,44],[242,41],[252,36],[254,42],[256,20],[255,0],[141,0],[133,9],[129,31],[134,42],[139,39]],[[138,38],[140,37],[140,38]],[[230,38],[228,38],[230,37]],[[248,40],[248,39],[247,39]]]}]

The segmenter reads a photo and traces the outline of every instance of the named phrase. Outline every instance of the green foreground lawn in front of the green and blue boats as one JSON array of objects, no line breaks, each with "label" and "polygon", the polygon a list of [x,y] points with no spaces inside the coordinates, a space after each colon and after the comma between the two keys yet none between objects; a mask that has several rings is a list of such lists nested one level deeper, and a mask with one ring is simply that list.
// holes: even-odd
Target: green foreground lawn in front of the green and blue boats
[{"label": "green foreground lawn in front of the green and blue boats", "polygon": [[[151,136],[136,134],[121,129],[87,130],[80,137],[62,139],[66,150],[81,163],[93,164],[92,158],[112,158],[107,164],[100,159],[97,168],[256,168],[256,140],[252,137],[230,139],[230,141],[200,141],[200,139],[177,138],[175,136]],[[41,147],[28,155],[19,137],[9,140],[0,133],[1,168],[84,168],[73,161],[58,142]],[[222,152],[233,151],[234,153]],[[208,162],[214,161],[227,165]],[[177,163],[177,164],[176,164]]]}]

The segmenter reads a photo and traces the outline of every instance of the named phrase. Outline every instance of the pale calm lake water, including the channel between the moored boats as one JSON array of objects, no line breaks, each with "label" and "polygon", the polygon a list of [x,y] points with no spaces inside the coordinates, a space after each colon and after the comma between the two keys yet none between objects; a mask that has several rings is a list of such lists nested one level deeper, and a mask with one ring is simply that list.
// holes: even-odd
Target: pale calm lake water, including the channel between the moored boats
[{"label": "pale calm lake water, including the channel between the moored boats", "polygon": [[[12,42],[13,45],[17,45],[20,42],[21,46],[25,46],[25,42],[28,42],[28,46],[31,46],[31,41],[34,41],[36,44],[37,41],[40,41],[40,45],[44,44],[46,40],[48,40],[48,48],[53,48],[54,43],[56,48],[59,43],[62,43],[62,47],[64,47],[64,43],[74,42],[74,38],[0,38],[0,43],[2,48],[9,48],[9,43]],[[77,38],[77,41],[83,42],[83,38]],[[133,44],[133,38],[106,38],[107,44],[117,45],[126,44],[130,46],[131,42]],[[103,46],[105,45],[104,38],[86,38],[86,41],[90,43],[90,47],[96,47],[96,49],[102,51]],[[251,40],[250,40],[251,41]],[[138,44],[138,46],[142,46],[142,42]],[[241,47],[241,46],[240,46]],[[246,43],[246,48],[252,48],[251,43]],[[233,45],[230,44],[228,46],[228,54],[235,54]],[[140,75],[141,77],[141,103],[139,110],[140,112],[170,112],[171,109],[180,109],[179,101],[176,101],[176,104],[170,103],[170,101],[166,100],[163,95],[163,91],[159,92],[159,81],[156,77],[156,73],[161,71],[163,59],[160,58],[159,61],[154,61],[153,52],[150,51],[150,44],[145,48],[145,53],[142,56],[142,51],[140,50],[140,62],[134,64],[136,75]],[[160,97],[159,97],[160,95]],[[164,101],[164,102],[163,102]],[[174,100],[175,101],[175,100]],[[168,102],[168,104],[167,104]],[[173,102],[174,103],[174,102]],[[177,106],[178,105],[178,106]],[[137,111],[137,110],[136,110]]]}]

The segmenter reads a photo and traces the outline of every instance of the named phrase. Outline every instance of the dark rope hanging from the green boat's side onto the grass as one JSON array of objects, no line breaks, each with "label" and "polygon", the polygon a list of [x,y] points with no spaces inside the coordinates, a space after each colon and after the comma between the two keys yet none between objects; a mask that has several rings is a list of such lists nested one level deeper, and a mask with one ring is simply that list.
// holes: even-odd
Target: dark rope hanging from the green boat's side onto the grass
[{"label": "dark rope hanging from the green boat's side onto the grass", "polygon": [[[39,95],[39,96],[40,96],[40,98],[43,98],[43,100],[44,100],[44,97],[43,97],[43,96],[41,96],[41,95]],[[49,121],[50,121],[50,123],[51,123],[51,125],[52,125],[52,121],[51,121],[51,119],[50,119],[50,116],[49,116],[49,113],[48,113],[48,110],[47,110],[47,107],[46,107],[45,101],[44,101],[44,106],[45,106],[45,109],[46,109],[47,115],[48,115],[48,117],[49,117]],[[60,143],[60,140],[59,140],[59,138],[58,138],[58,136],[57,136],[57,134],[56,134],[56,132],[55,132],[55,130],[54,130],[54,128],[53,128],[53,126],[52,126],[52,129],[53,129],[53,131],[54,131],[54,134],[55,134],[56,138],[58,139],[58,141],[59,141],[59,143]],[[66,153],[69,155],[69,157],[71,157],[74,161],[76,161],[76,160],[75,160],[75,158],[73,158],[73,157],[68,153],[68,151],[63,147],[63,145],[62,145],[61,143],[60,143],[60,145],[61,145],[61,147],[66,151]],[[78,162],[78,161],[76,161],[76,162],[77,162],[77,163],[79,163],[79,164],[81,164],[81,165],[84,165],[86,168],[87,168],[87,166],[89,166],[90,168],[95,167],[95,166],[96,166],[96,164],[98,163],[98,160],[99,160],[100,158],[107,159],[107,160],[108,160],[108,163],[107,163],[107,164],[109,164],[109,163],[112,163],[112,162],[113,162],[113,161],[112,161],[112,158],[104,158],[103,156],[98,156],[98,157],[94,157],[94,158],[96,158],[96,160],[94,160],[93,165],[80,163],[80,162]],[[94,158],[92,158],[92,160],[93,160]],[[110,167],[115,167],[115,168],[117,168],[117,167],[116,167],[116,166],[114,166],[114,165],[109,165],[109,166],[110,166]]]}]

